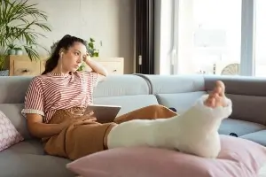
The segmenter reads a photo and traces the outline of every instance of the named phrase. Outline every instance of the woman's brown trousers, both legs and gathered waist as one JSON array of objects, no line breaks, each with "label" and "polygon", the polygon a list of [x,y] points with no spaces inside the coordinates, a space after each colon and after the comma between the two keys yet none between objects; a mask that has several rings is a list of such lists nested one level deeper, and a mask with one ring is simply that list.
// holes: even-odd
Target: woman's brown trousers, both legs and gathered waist
[{"label": "woman's brown trousers, both legs and gathered waist", "polygon": [[[82,108],[59,110],[51,118],[51,124],[58,124],[65,119],[76,119],[73,112],[83,112]],[[91,153],[105,150],[104,137],[106,130],[111,125],[117,125],[131,119],[167,119],[176,115],[162,105],[150,105],[133,112],[117,117],[114,122],[100,124],[98,122],[82,125],[82,120],[77,119],[75,125],[65,128],[59,133],[48,138],[43,138],[44,150],[47,154],[75,160]]]}]

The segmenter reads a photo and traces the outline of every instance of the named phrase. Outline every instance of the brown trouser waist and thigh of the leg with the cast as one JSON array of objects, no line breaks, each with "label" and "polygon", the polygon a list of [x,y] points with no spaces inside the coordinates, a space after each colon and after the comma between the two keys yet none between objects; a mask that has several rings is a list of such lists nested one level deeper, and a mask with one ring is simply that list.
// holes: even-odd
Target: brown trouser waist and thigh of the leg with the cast
[{"label": "brown trouser waist and thigh of the leg with the cast", "polygon": [[51,156],[81,158],[94,152],[106,150],[106,135],[115,123],[100,124],[90,122],[84,124],[82,116],[74,116],[71,112],[82,112],[80,108],[59,110],[51,118],[51,124],[58,124],[66,119],[76,119],[74,124],[63,129],[59,135],[43,138],[44,151]]}]

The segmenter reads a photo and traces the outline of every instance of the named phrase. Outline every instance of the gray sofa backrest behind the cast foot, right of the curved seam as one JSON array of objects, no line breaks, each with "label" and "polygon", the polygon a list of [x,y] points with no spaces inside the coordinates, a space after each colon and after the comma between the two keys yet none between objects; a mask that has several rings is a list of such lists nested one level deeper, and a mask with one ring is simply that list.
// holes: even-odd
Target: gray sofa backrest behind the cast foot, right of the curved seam
[{"label": "gray sofa backrest behind the cast foot, right of the curved seam", "polygon": [[231,119],[241,119],[266,125],[266,79],[245,76],[218,75],[142,75],[152,87],[159,104],[175,107],[179,113],[189,109],[200,96],[223,81],[226,96],[231,98]]}]

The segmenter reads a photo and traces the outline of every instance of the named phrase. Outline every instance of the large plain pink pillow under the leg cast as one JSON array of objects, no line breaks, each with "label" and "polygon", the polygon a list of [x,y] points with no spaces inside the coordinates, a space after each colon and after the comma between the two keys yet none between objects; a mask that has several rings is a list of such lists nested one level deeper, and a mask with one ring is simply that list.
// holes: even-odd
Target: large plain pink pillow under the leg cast
[{"label": "large plain pink pillow under the leg cast", "polygon": [[120,148],[101,151],[66,165],[82,177],[251,177],[266,162],[266,149],[255,142],[221,135],[217,159],[174,150]]}]

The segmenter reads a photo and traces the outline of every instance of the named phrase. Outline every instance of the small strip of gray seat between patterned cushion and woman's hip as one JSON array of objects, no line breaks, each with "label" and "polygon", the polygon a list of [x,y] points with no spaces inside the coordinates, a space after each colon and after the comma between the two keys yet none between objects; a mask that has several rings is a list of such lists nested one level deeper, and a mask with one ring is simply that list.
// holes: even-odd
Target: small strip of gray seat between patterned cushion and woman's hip
[{"label": "small strip of gray seat between patterned cushion and woman's hip", "polygon": [[32,139],[19,142],[8,149],[1,151],[0,158],[1,155],[6,153],[44,155],[44,150],[41,142]]}]

